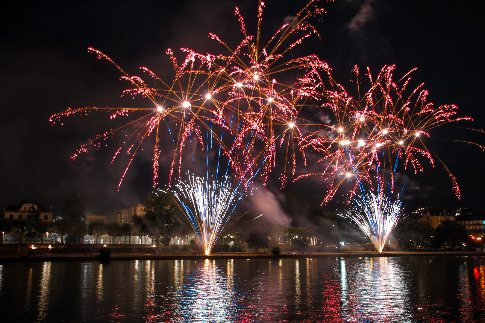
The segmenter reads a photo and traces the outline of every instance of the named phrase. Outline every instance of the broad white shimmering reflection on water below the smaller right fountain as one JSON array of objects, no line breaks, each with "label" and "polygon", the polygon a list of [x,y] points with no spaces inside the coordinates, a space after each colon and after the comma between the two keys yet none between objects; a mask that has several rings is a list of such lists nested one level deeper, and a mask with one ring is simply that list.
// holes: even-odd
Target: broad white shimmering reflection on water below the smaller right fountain
[{"label": "broad white shimmering reflection on water below the smaller right fountain", "polygon": [[408,282],[399,261],[388,257],[342,259],[340,268],[345,320],[414,322]]}]

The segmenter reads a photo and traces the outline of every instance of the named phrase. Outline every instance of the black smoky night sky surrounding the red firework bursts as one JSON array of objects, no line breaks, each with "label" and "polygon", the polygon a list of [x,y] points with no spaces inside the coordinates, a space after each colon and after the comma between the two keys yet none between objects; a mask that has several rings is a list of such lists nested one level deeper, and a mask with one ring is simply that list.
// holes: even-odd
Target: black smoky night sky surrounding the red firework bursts
[{"label": "black smoky night sky surrounding the red firework bursts", "polygon": [[[268,30],[306,3],[265,2],[263,28]],[[138,74],[139,66],[147,66],[163,76],[172,69],[167,47],[216,52],[219,47],[207,37],[209,32],[229,44],[239,42],[242,35],[233,15],[236,5],[254,34],[257,1],[4,4],[0,13],[0,204],[16,204],[20,199],[58,203],[70,195],[87,194],[98,200],[97,212],[104,212],[142,202],[151,191],[148,154],[134,161],[119,191],[116,186],[125,164],[110,163],[116,143],[76,162],[70,159],[81,143],[109,129],[106,115],[71,117],[62,126],[50,125],[49,116],[67,107],[126,107],[141,102],[127,103],[129,99],[120,97],[127,84],[118,80],[119,72],[112,65],[87,53],[88,46],[107,53],[129,73]],[[355,64],[370,66],[375,74],[384,64],[396,63],[396,75],[418,67],[413,79],[425,82],[430,101],[454,103],[460,116],[475,119],[459,126],[484,127],[483,1],[336,0],[321,1],[321,5],[328,12],[316,22],[321,39],[307,40],[298,54],[318,54],[342,82],[350,79]],[[426,165],[424,173],[409,175],[404,188],[408,209],[484,208],[484,153],[437,138],[484,144],[485,137],[451,128],[438,129],[436,138],[427,140],[457,177],[462,200],[454,197],[451,181],[437,163],[434,169]],[[400,187],[407,173],[401,175]],[[285,189],[298,190],[319,203],[323,187],[312,183],[296,182]],[[338,207],[337,202],[343,201],[337,196],[329,208]]]}]

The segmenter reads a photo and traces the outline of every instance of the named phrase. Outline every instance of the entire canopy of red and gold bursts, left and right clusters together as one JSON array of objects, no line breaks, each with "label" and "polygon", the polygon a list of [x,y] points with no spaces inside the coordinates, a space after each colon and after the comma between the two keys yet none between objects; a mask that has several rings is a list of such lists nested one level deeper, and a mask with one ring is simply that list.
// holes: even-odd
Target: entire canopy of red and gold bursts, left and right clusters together
[{"label": "entire canopy of red and gold bursts, left and right clusters together", "polygon": [[[412,168],[415,172],[423,170],[423,160],[432,165],[435,159],[441,162],[425,145],[431,130],[446,123],[471,119],[455,118],[457,107],[454,105],[434,107],[427,102],[428,92],[422,89],[423,84],[407,90],[409,75],[414,69],[395,81],[394,65],[384,66],[377,77],[373,77],[368,68],[363,78],[356,66],[356,91],[351,92],[332,77],[331,68],[317,55],[292,58],[290,52],[294,46],[310,35],[319,36],[309,19],[326,12],[315,3],[310,1],[292,22],[283,24],[266,43],[260,36],[264,3],[259,1],[256,36],[249,33],[236,8],[234,14],[242,33],[239,45],[230,48],[229,42],[210,33],[209,37],[221,44],[224,53],[200,54],[180,48],[185,58],[177,60],[174,51],[167,49],[175,72],[171,83],[164,82],[146,67],[140,68],[158,87],[149,86],[149,82],[139,76],[130,76],[104,53],[89,48],[98,58],[114,64],[122,72],[121,78],[130,82],[132,87],[123,94],[147,98],[148,108],[69,108],[53,115],[50,121],[55,123],[61,117],[99,110],[110,111],[112,119],[141,114],[82,145],[73,160],[90,147],[99,149],[99,141],[129,128],[131,134],[123,145],[134,147],[129,156],[131,161],[143,140],[151,135],[155,137],[155,187],[159,143],[164,140],[159,125],[164,122],[175,144],[169,186],[173,177],[180,179],[182,154],[187,143],[193,137],[202,143],[200,135],[206,129],[210,130],[211,140],[221,146],[221,154],[229,159],[235,176],[242,183],[248,183],[259,169],[263,184],[274,169],[279,171],[281,186],[286,185],[289,177],[296,181],[318,175],[327,186],[323,203],[330,201],[343,183],[351,185],[347,195],[350,202],[359,187],[374,186],[373,181],[382,193],[385,175],[390,175],[388,187],[392,194],[394,173],[398,171],[400,160],[404,169]],[[299,77],[291,80],[288,75],[292,73]],[[365,81],[368,82],[366,91],[363,90]],[[326,121],[320,118],[322,116]],[[221,135],[212,135],[213,131]],[[316,154],[317,164],[323,165],[323,169],[307,165],[307,154]],[[300,163],[304,167],[297,169]],[[441,164],[448,171],[453,190],[459,197],[456,179],[446,165]],[[316,167],[308,170],[306,166]],[[379,171],[375,172],[376,169]]]}]

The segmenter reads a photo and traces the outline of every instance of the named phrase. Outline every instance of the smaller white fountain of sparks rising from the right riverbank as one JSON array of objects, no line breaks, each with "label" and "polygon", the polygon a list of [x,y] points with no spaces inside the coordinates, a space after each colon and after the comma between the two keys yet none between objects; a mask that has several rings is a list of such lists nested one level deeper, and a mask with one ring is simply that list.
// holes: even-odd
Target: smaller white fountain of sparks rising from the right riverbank
[{"label": "smaller white fountain of sparks rising from the right riverbank", "polygon": [[354,220],[359,229],[372,241],[378,252],[382,252],[389,235],[394,230],[401,212],[401,201],[392,201],[383,194],[368,193],[356,198],[352,211],[342,215]]}]

